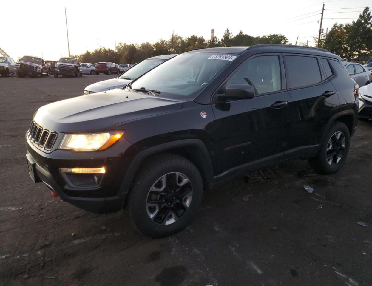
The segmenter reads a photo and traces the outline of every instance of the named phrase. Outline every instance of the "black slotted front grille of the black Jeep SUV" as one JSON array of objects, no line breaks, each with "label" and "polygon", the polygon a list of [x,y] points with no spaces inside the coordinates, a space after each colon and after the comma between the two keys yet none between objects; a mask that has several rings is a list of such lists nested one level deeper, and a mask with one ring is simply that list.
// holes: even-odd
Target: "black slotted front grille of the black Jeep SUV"
[{"label": "black slotted front grille of the black Jeep SUV", "polygon": [[45,129],[35,121],[32,121],[27,131],[27,137],[33,145],[40,150],[51,151],[58,137],[58,133]]}]

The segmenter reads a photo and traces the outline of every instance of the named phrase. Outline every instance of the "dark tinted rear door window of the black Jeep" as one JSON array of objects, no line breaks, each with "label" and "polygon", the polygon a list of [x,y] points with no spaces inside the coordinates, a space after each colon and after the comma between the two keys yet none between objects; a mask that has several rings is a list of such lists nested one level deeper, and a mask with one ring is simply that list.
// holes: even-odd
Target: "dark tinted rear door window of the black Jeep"
[{"label": "dark tinted rear door window of the black Jeep", "polygon": [[322,81],[317,58],[285,56],[285,62],[285,73],[289,88],[310,86]]}]

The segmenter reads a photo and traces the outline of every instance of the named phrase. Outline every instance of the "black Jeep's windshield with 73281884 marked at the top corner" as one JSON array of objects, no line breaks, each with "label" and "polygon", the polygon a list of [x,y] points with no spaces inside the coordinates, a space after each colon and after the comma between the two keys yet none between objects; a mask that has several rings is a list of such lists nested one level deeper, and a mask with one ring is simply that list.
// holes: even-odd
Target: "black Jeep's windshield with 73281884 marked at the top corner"
[{"label": "black Jeep's windshield with 73281884 marked at the top corner", "polygon": [[162,97],[194,99],[236,57],[204,52],[178,55],[133,81],[131,89],[145,87],[160,91]]}]

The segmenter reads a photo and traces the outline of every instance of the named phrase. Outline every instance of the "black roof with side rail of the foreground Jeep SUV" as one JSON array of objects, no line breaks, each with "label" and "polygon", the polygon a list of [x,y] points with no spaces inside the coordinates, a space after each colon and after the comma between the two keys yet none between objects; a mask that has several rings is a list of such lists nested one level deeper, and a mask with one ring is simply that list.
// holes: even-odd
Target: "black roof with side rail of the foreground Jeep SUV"
[{"label": "black roof with side rail of the foreground Jeep SUV", "polygon": [[201,48],[193,49],[187,53],[197,52],[220,52],[228,54],[243,54],[243,52],[250,50],[252,52],[281,52],[281,53],[296,53],[296,54],[312,54],[318,56],[326,56],[341,60],[338,55],[328,52],[326,49],[315,48],[310,46],[295,46],[295,45],[279,45],[279,44],[261,44],[253,46],[239,46],[239,47],[216,47],[216,48]]}]

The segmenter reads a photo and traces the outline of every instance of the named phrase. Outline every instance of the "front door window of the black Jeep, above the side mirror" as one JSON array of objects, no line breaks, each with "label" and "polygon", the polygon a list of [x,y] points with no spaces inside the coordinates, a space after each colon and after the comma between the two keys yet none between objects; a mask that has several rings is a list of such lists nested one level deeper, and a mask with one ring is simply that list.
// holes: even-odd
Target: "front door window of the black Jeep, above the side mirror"
[{"label": "front door window of the black Jeep, above the side mirror", "polygon": [[257,94],[281,89],[279,58],[276,55],[260,56],[244,62],[227,80],[231,83],[248,83]]}]

